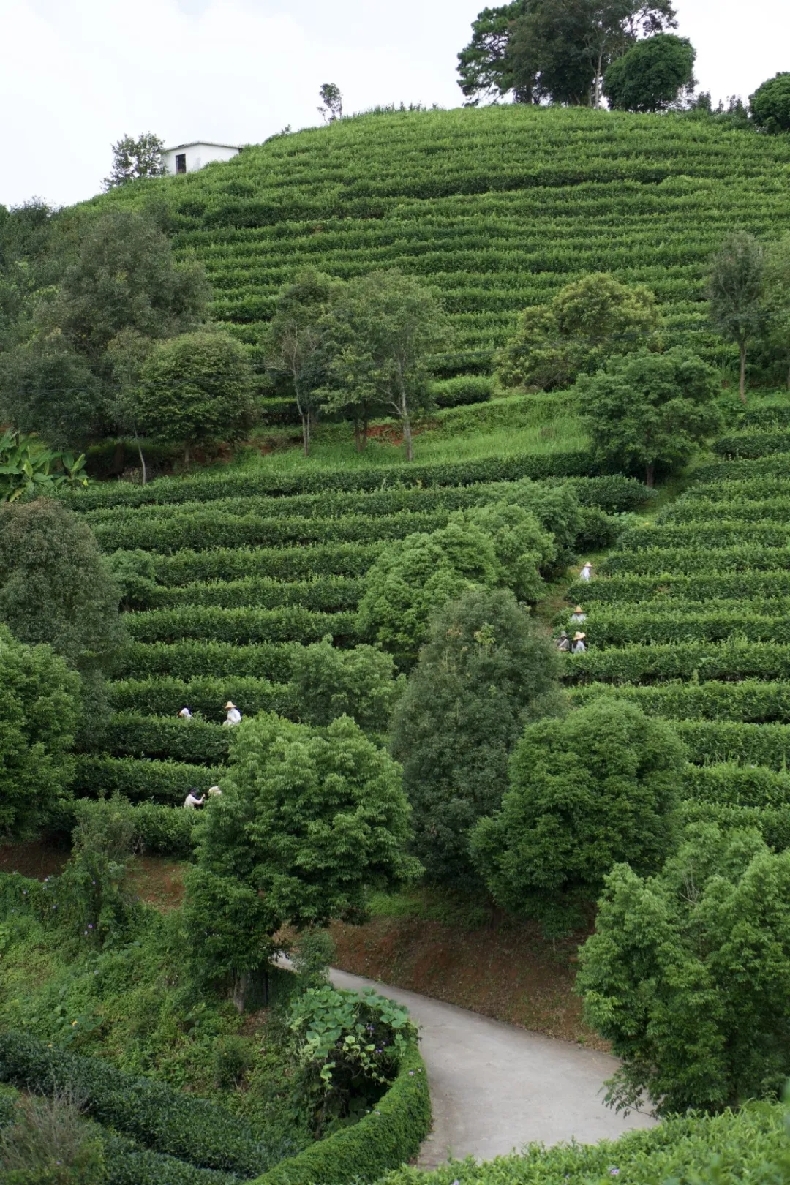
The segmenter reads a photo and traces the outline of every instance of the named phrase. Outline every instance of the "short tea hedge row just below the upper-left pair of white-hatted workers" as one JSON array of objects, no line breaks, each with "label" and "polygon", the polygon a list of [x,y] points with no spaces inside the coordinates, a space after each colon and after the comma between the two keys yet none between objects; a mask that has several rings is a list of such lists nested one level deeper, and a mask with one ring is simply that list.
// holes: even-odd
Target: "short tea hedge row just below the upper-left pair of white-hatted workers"
[{"label": "short tea hedge row just below the upper-left pair of white-hatted workers", "polygon": [[102,748],[118,757],[156,757],[214,768],[227,761],[230,734],[231,729],[204,720],[116,712],[104,729]]}]

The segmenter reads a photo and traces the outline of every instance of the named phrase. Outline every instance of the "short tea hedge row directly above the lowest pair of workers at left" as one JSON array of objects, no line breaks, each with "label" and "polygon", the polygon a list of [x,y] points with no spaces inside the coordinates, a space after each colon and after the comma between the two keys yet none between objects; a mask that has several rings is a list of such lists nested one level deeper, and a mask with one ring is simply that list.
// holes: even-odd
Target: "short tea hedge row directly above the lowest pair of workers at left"
[{"label": "short tea hedge row directly above the lowest pair of workers at left", "polygon": [[[155,803],[181,806],[194,787],[207,790],[217,784],[226,767],[191,766],[179,761],[152,761],[137,757],[105,757],[79,754],[72,783],[77,798],[99,799],[121,794],[141,811],[152,800]],[[188,812],[185,812],[188,814]],[[142,816],[141,818],[147,818]],[[159,816],[152,816],[155,819]],[[154,827],[154,822],[152,822]],[[147,833],[146,844],[156,847],[155,831]]]}]

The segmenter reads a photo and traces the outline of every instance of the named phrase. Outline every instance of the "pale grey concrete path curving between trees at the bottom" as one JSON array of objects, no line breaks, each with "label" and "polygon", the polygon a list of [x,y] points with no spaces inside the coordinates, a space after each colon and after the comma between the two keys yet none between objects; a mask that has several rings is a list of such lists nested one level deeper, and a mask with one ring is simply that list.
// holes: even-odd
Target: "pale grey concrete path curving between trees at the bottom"
[{"label": "pale grey concrete path curving between trees at the bottom", "polygon": [[604,1106],[604,1078],[617,1068],[606,1053],[342,971],[333,971],[332,981],[352,991],[374,987],[405,1004],[419,1025],[433,1104],[423,1168],[450,1157],[490,1160],[532,1141],[595,1144],[654,1125],[648,1115],[623,1119]]}]

